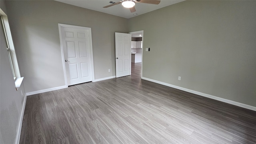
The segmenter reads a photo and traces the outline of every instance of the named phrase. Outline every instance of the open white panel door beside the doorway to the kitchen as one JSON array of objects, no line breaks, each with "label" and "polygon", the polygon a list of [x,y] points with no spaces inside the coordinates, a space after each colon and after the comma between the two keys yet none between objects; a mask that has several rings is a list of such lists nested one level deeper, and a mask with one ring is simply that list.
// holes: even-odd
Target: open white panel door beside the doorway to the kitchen
[{"label": "open white panel door beside the doorway to the kitchen", "polygon": [[131,64],[131,34],[115,32],[116,40],[116,78],[128,76]]}]

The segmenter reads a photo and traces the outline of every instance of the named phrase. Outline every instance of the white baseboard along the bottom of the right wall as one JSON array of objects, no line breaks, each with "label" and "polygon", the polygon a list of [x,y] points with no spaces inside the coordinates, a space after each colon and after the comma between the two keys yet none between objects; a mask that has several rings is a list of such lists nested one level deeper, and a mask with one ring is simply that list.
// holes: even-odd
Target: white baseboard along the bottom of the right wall
[{"label": "white baseboard along the bottom of the right wall", "polygon": [[176,89],[179,89],[179,90],[183,90],[185,92],[190,92],[192,94],[197,94],[199,96],[204,96],[206,98],[211,98],[211,99],[214,99],[214,100],[218,100],[218,101],[221,101],[221,102],[226,102],[228,104],[233,104],[235,106],[240,106],[242,108],[247,108],[249,110],[254,110],[256,111],[256,107],[254,106],[250,106],[250,105],[247,105],[247,104],[242,104],[240,102],[234,102],[232,100],[227,100],[227,99],[224,99],[224,98],[220,98],[220,97],[217,97],[217,96],[212,96],[210,94],[204,94],[202,92],[197,92],[197,91],[194,91],[194,90],[190,90],[190,89],[187,89],[187,88],[182,88],[180,86],[175,86],[175,85],[172,85],[172,84],[168,84],[168,83],[165,83],[165,82],[160,82],[158,80],[152,80],[150,78],[145,78],[145,77],[141,77],[142,79],[144,80],[148,80],[150,82],[155,82],[155,83],[158,83],[158,84],[162,84],[162,85],[165,85],[165,86],[169,86],[169,87],[172,87],[172,88],[176,88]]}]

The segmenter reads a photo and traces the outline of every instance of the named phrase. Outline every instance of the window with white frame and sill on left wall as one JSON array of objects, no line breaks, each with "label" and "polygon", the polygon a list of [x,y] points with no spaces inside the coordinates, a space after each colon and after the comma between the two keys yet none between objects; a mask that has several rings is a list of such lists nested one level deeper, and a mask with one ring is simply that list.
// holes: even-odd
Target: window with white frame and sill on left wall
[{"label": "window with white frame and sill on left wall", "polygon": [[16,52],[14,49],[14,44],[12,41],[12,34],[8,22],[8,18],[6,14],[0,9],[0,18],[1,18],[1,26],[4,31],[4,36],[6,40],[7,52],[10,60],[10,66],[12,68],[12,74],[16,85],[16,90],[20,87],[23,77],[20,77],[20,70],[18,66],[18,61],[16,57]]}]

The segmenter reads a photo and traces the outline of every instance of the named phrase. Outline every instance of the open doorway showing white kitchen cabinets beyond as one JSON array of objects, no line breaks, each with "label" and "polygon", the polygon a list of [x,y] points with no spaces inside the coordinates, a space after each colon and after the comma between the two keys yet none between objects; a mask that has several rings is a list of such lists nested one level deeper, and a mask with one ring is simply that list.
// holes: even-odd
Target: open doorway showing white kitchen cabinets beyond
[{"label": "open doorway showing white kitchen cabinets beyond", "polygon": [[131,34],[131,75],[142,77],[143,30]]}]

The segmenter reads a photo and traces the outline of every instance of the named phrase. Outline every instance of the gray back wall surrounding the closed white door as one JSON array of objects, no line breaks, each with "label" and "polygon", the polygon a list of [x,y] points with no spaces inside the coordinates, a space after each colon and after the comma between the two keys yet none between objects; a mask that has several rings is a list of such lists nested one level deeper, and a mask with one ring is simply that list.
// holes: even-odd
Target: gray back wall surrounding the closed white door
[{"label": "gray back wall surrounding the closed white door", "polygon": [[95,79],[115,76],[114,32],[127,33],[128,19],[52,0],[6,7],[26,92],[65,85],[58,23],[92,28]]}]

